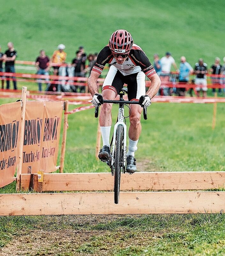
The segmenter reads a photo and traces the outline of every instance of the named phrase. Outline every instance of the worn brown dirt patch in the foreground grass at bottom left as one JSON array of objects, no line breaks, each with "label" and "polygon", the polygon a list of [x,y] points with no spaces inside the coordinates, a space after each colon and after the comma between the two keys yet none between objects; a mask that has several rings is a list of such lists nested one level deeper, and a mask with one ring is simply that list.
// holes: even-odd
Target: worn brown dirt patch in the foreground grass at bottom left
[{"label": "worn brown dirt patch in the foreground grass at bottom left", "polygon": [[13,237],[1,256],[76,256],[114,255],[130,246],[147,244],[146,233],[109,230],[32,230]]}]

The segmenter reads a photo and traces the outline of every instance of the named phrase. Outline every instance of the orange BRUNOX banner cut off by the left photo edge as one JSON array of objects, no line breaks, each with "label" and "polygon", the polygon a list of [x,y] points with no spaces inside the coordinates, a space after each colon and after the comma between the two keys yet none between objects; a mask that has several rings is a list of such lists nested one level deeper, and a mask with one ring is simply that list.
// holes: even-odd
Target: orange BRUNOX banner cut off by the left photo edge
[{"label": "orange BRUNOX banner cut off by the left photo edge", "polygon": [[0,106],[0,187],[14,181],[19,160],[21,102]]}]

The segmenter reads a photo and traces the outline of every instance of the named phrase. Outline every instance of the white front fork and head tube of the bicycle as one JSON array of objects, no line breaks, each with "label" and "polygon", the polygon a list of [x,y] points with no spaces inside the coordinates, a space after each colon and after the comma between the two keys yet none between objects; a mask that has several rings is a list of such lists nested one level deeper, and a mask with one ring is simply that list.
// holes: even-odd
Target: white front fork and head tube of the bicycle
[{"label": "white front fork and head tube of the bicycle", "polygon": [[112,141],[112,160],[111,160],[111,166],[114,164],[114,152],[115,152],[115,141],[116,141],[116,133],[117,133],[117,128],[119,125],[123,126],[123,168],[126,166],[126,124],[123,121],[124,119],[124,107],[120,106],[119,111],[118,111],[118,121],[114,125],[114,131],[113,131],[113,141]]}]

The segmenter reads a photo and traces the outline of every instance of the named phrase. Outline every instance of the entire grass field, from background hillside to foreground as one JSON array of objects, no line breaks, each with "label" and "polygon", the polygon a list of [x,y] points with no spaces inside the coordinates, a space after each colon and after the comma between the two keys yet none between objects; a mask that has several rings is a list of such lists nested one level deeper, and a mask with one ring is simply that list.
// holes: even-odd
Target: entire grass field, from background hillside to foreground
[{"label": "entire grass field, from background hillside to foreground", "polygon": [[[14,42],[17,59],[33,61],[42,48],[51,56],[63,43],[70,62],[80,45],[86,53],[98,52],[114,30],[126,28],[151,61],[154,53],[161,57],[171,51],[177,63],[185,55],[192,66],[200,57],[210,66],[216,56],[225,55],[224,21],[221,0],[9,0],[0,8],[0,44],[4,51],[7,42]],[[19,88],[24,85],[19,83]],[[28,84],[28,89],[36,88]],[[15,100],[0,99],[0,104]],[[225,171],[224,111],[225,105],[217,104],[212,130],[212,104],[152,104],[147,121],[142,119],[138,170]],[[69,115],[68,120],[65,171],[110,171],[95,158],[94,110]],[[14,192],[15,183],[0,188],[0,194]],[[0,256],[223,256],[224,216],[0,217]]]}]

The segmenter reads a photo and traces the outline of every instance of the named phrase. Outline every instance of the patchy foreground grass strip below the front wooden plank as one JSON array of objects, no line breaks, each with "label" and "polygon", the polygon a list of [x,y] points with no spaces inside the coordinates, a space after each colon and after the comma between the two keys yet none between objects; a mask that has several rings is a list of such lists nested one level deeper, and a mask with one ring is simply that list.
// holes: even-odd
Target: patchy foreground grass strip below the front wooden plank
[{"label": "patchy foreground grass strip below the front wooden plank", "polygon": [[[225,249],[224,214],[186,215],[128,215],[104,216],[53,216],[53,217],[3,217],[0,247],[13,236],[58,232],[58,243],[32,248],[26,255],[223,255]],[[47,223],[47,225],[46,225]],[[75,243],[66,245],[60,237],[64,234]],[[83,239],[82,233],[86,233]],[[46,239],[46,238],[45,238]],[[53,238],[54,239],[54,238]],[[80,240],[79,240],[80,239]],[[47,240],[47,239],[46,239]],[[44,240],[42,240],[44,241]],[[25,247],[21,244],[20,248]],[[57,250],[58,248],[58,250]],[[4,249],[4,248],[3,248]],[[33,254],[32,254],[33,253]],[[39,253],[39,254],[38,254]],[[61,254],[60,254],[61,253]]]}]

